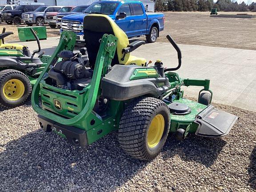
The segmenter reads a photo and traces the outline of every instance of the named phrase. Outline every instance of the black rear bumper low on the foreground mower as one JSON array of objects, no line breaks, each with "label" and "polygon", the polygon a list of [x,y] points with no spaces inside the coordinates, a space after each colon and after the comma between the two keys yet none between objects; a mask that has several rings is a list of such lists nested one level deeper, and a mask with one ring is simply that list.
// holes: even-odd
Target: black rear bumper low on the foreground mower
[{"label": "black rear bumper low on the foreground mower", "polygon": [[40,123],[40,128],[42,128],[45,132],[54,131],[61,136],[65,136],[68,142],[73,145],[88,147],[87,134],[85,130],[73,126],[59,124],[41,115],[38,115],[38,120]]}]

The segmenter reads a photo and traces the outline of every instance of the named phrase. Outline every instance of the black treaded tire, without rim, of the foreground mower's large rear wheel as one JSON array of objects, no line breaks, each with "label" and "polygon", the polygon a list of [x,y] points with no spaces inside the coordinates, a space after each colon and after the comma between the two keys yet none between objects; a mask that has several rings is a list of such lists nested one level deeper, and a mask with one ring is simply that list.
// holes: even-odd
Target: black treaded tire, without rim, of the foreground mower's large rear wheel
[{"label": "black treaded tire, without rim, of the foreground mower's large rear wheel", "polygon": [[155,110],[160,107],[168,108],[156,98],[138,97],[124,110],[119,124],[118,140],[121,148],[130,156],[140,160],[152,160],[158,155],[148,155],[144,138]]}]

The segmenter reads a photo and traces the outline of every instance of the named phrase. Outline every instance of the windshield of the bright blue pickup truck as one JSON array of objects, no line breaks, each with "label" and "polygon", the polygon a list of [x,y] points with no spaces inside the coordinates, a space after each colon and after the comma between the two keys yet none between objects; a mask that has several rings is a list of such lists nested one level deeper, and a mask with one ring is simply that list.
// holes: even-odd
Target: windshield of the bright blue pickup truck
[{"label": "windshield of the bright blue pickup truck", "polygon": [[84,11],[84,13],[111,15],[115,11],[117,5],[118,3],[107,3],[107,2],[92,4]]}]

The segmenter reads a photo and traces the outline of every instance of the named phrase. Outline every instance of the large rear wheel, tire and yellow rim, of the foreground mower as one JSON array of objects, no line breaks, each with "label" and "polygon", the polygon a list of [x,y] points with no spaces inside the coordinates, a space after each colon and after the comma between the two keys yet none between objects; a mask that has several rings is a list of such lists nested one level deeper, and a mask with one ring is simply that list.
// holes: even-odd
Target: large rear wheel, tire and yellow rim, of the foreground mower
[{"label": "large rear wheel, tire and yellow rim, of the foreground mower", "polygon": [[168,106],[156,98],[139,97],[124,110],[118,140],[128,155],[153,160],[164,146],[169,129]]}]

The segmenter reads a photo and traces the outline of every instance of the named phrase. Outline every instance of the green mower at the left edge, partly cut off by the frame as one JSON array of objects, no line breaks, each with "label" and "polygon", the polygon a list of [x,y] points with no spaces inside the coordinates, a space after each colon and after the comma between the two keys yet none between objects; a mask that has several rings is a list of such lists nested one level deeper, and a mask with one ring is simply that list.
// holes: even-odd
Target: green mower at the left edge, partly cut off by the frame
[{"label": "green mower at the left edge, partly cut off by the frame", "polygon": [[0,107],[13,108],[24,104],[31,94],[32,86],[41,74],[50,56],[35,57],[40,52],[40,41],[35,36],[38,50],[30,53],[27,46],[20,44],[4,44],[4,38],[13,32],[0,34]]}]

